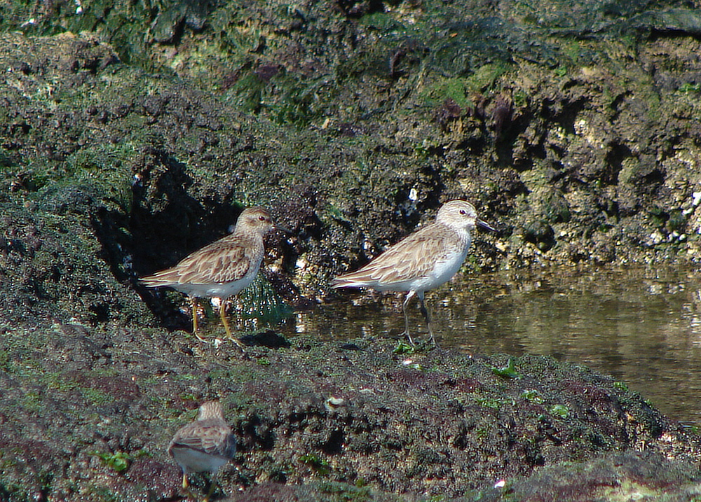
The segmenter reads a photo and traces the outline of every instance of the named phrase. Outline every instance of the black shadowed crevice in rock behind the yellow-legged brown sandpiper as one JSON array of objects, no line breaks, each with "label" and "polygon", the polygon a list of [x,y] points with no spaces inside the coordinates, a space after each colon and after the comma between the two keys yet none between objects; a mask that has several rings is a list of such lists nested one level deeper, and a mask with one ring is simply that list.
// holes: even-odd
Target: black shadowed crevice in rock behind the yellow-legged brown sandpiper
[{"label": "black shadowed crevice in rock behind the yellow-legged brown sandpiper", "polygon": [[231,204],[198,202],[187,167],[157,148],[135,160],[132,204],[125,211],[100,208],[93,218],[111,271],[129,284],[168,329],[189,329],[191,317],[180,312],[168,288],[144,288],[139,277],[178,263],[192,251],[229,232],[237,209]]}]

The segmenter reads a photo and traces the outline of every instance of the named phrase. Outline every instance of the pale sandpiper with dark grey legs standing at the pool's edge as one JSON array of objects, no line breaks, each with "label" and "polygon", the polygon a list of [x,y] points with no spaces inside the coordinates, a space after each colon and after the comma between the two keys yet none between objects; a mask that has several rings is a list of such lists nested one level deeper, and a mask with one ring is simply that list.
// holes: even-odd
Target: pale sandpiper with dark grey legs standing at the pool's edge
[{"label": "pale sandpiper with dark grey legs standing at the pool's edge", "polygon": [[475,225],[496,231],[489,223],[477,218],[477,211],[470,202],[446,202],[438,209],[433,223],[404,237],[359,270],[336,277],[331,284],[334,288],[407,291],[402,305],[402,334],[407,336],[411,345],[414,345],[414,340],[409,334],[407,304],[414,295],[418,296],[430,340],[437,345],[423,293],[447,282],[458,272],[468,254],[472,242],[470,232],[475,230]]}]

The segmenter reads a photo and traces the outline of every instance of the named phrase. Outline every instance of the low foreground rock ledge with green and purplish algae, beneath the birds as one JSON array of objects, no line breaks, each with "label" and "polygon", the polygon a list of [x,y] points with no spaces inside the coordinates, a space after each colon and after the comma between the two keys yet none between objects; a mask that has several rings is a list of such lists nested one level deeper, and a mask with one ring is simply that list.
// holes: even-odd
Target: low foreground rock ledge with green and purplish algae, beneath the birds
[{"label": "low foreground rock ledge with green and purplish algae, beneath the birds", "polygon": [[313,337],[241,354],[152,331],[71,326],[8,330],[3,347],[11,391],[0,403],[0,479],[12,501],[41,489],[67,501],[172,496],[179,470],[165,445],[215,396],[238,442],[220,484],[244,498],[470,500],[498,494],[500,480],[513,489],[529,475],[543,479],[554,472],[543,468],[565,461],[578,470],[644,449],[663,466],[671,461],[662,456],[683,463],[701,452],[697,436],[622,384],[540,356],[396,354],[390,340]]}]

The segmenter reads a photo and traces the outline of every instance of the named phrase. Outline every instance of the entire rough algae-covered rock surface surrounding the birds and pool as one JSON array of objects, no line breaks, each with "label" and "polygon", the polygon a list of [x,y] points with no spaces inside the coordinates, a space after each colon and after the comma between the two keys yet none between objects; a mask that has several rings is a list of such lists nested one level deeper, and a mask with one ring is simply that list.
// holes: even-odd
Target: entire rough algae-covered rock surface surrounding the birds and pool
[{"label": "entire rough algae-covered rock surface surrounding the birds and pool", "polygon": [[176,497],[163,445],[212,396],[241,500],[697,494],[697,436],[583,368],[241,356],[136,281],[251,204],[292,230],[242,300],[273,317],[454,197],[500,230],[477,270],[697,260],[697,2],[7,1],[0,31],[0,498]]}]

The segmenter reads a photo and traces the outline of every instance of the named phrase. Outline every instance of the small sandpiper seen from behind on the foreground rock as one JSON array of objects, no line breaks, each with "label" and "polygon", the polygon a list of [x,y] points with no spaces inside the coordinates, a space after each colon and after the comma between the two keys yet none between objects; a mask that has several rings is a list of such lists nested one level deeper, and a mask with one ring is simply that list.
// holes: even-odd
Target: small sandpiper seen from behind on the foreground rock
[{"label": "small sandpiper seen from behind on the foreground rock", "polygon": [[207,501],[215,487],[217,471],[236,453],[236,441],[224,420],[219,401],[207,401],[200,406],[197,420],[180,428],[170,440],[168,454],[182,468],[182,488],[189,490],[189,473],[212,473]]}]

